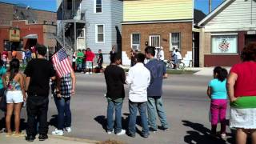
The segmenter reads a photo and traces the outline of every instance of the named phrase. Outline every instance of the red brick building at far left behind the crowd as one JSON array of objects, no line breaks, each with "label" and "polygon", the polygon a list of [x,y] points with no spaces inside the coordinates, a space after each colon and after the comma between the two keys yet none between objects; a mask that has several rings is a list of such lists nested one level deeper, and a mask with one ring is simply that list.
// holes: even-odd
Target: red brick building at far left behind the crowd
[{"label": "red brick building at far left behind the crowd", "polygon": [[[51,11],[35,10],[0,2],[0,52],[18,51],[34,46],[37,42],[49,47],[51,53],[57,42],[52,39],[56,34],[57,14]],[[9,54],[10,55],[10,54]]]}]

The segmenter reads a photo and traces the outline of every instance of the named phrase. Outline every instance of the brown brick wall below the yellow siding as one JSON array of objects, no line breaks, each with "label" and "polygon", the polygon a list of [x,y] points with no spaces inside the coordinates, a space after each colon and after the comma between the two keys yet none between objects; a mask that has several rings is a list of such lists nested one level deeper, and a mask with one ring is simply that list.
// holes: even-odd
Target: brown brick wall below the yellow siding
[{"label": "brown brick wall below the yellow siding", "polygon": [[141,51],[145,50],[145,42],[149,42],[150,35],[160,35],[161,46],[164,48],[165,59],[170,58],[170,33],[181,34],[182,57],[187,51],[192,51],[192,23],[153,23],[122,25],[122,51],[130,56],[131,34],[141,34]]}]

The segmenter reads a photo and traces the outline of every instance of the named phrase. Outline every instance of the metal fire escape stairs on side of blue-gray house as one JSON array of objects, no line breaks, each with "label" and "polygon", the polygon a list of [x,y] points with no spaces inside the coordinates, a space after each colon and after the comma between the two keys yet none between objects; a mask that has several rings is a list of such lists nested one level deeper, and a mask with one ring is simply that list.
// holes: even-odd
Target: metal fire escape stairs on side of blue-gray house
[{"label": "metal fire escape stairs on side of blue-gray house", "polygon": [[54,38],[68,53],[77,50],[78,28],[86,26],[85,13],[81,10],[82,0],[62,0],[59,7],[62,18],[57,21],[57,34]]}]

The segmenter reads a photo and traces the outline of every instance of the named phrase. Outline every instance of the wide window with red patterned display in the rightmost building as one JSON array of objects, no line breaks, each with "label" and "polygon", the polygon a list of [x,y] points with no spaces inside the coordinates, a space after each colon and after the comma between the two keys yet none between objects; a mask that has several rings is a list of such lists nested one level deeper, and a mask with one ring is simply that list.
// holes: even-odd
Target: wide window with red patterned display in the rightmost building
[{"label": "wide window with red patterned display in the rightmost building", "polygon": [[238,35],[218,35],[211,36],[211,53],[213,54],[237,54]]}]

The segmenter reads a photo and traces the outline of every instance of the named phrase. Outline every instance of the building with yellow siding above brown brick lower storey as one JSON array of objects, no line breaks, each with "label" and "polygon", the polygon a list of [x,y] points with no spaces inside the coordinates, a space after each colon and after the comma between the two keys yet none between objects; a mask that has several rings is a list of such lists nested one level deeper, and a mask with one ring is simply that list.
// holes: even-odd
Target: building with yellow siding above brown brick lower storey
[{"label": "building with yellow siding above brown brick lower storey", "polygon": [[123,1],[122,62],[130,65],[130,50],[144,52],[146,44],[163,47],[165,59],[175,47],[183,62],[192,60],[193,2],[174,0]]}]

